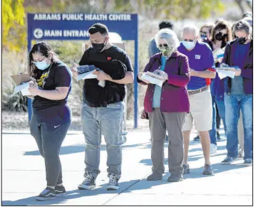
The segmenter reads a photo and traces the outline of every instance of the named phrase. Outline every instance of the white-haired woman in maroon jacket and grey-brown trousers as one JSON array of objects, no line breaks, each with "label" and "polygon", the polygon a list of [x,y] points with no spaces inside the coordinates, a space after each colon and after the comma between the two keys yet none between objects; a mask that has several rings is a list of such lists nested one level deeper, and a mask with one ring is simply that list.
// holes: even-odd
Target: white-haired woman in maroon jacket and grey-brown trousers
[{"label": "white-haired woman in maroon jacket and grey-brown trousers", "polygon": [[190,112],[188,91],[186,85],[190,80],[188,57],[179,53],[178,38],[174,31],[161,29],[155,36],[160,53],[150,58],[144,72],[163,70],[168,80],[163,86],[150,84],[142,79],[143,73],[138,74],[138,83],[148,85],[145,94],[144,108],[151,121],[150,132],[153,135],[151,159],[153,173],[148,181],[163,179],[165,132],[168,130],[168,165],[171,175],[169,182],[183,180],[183,132],[185,116]]}]

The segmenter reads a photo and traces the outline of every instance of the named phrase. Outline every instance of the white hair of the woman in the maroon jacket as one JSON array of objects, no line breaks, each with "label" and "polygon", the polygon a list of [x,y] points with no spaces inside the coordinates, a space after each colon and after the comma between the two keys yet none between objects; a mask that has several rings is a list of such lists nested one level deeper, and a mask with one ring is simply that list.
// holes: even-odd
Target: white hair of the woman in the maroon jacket
[{"label": "white hair of the woman in the maroon jacket", "polygon": [[155,35],[155,43],[158,46],[160,39],[165,40],[165,42],[168,44],[171,48],[178,48],[180,46],[180,42],[178,40],[178,37],[174,31],[172,31],[170,28],[162,28],[158,33]]}]

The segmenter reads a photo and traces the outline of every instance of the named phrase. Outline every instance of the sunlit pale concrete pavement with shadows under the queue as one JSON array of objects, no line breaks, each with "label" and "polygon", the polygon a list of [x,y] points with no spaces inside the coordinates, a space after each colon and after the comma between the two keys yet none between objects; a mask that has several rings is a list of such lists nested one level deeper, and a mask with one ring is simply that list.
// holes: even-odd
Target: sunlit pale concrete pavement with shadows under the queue
[{"label": "sunlit pale concrete pavement with shadows under the queue", "polygon": [[[168,145],[165,144],[163,181],[146,181],[151,173],[150,133],[129,132],[123,145],[123,167],[118,191],[106,191],[106,144],[101,147],[101,165],[93,191],[80,191],[83,181],[83,134],[69,134],[61,147],[63,184],[67,195],[52,201],[35,201],[46,187],[43,158],[29,134],[2,134],[2,205],[168,205],[213,206],[252,205],[252,167],[237,160],[220,165],[225,158],[225,140],[218,142],[218,152],[211,156],[213,176],[203,176],[203,152],[199,142],[190,142],[191,173],[179,183],[168,183]],[[192,134],[191,137],[195,137]]]}]

